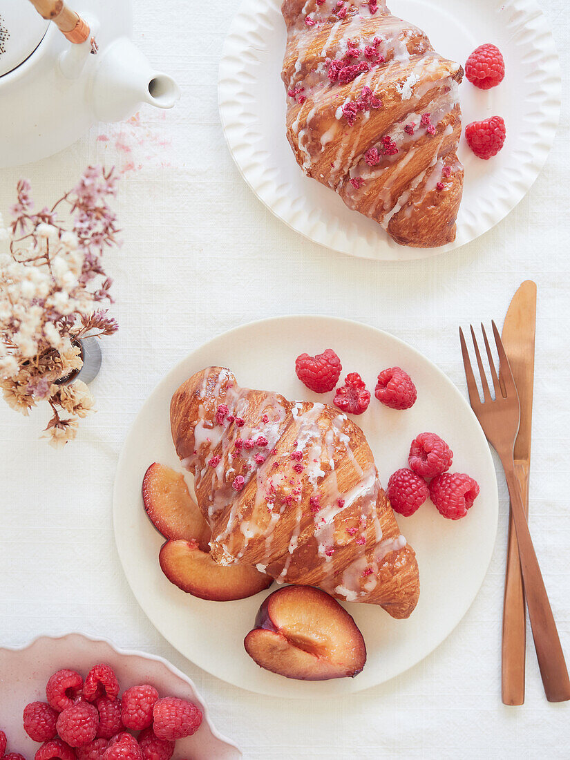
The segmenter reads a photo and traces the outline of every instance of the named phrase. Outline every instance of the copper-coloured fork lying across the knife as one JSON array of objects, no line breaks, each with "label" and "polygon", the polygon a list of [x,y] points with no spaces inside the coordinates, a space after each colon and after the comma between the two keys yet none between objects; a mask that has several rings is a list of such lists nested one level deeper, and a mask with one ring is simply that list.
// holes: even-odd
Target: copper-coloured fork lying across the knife
[{"label": "copper-coloured fork lying across the knife", "polygon": [[467,352],[464,334],[461,328],[459,328],[461,353],[463,354],[465,375],[467,377],[467,389],[473,412],[477,416],[477,420],[479,420],[489,443],[499,454],[503,469],[505,470],[508,493],[511,497],[511,515],[515,524],[515,530],[517,531],[524,594],[527,599],[528,616],[530,618],[534,647],[537,650],[540,676],[543,679],[546,698],[550,702],[562,702],[570,699],[568,670],[566,670],[564,653],[562,652],[558,631],[556,630],[553,611],[550,608],[548,595],[544,587],[537,555],[534,552],[533,542],[530,538],[521,495],[521,486],[515,475],[513,449],[515,448],[515,440],[521,419],[521,407],[518,401],[517,388],[495,322],[492,322],[492,331],[495,336],[497,351],[499,352],[502,384],[499,382],[483,325],[481,325],[481,329],[483,331],[487,358],[489,359],[492,385],[495,388],[495,399],[491,397],[489,392],[489,384],[485,369],[483,368],[479,346],[477,345],[475,332],[471,328],[473,347],[475,348],[477,366],[479,367],[481,385],[483,387],[483,401],[481,401],[469,353]]}]

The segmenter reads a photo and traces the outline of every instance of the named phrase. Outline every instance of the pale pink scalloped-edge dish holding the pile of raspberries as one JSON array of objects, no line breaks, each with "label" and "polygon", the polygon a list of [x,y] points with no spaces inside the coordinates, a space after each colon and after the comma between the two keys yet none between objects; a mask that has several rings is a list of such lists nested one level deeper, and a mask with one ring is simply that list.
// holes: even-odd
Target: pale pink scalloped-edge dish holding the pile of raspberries
[{"label": "pale pink scalloped-edge dish holding the pile of raspberries", "polygon": [[188,676],[152,654],[116,649],[102,639],[71,633],[59,638],[41,636],[17,649],[0,648],[0,722],[8,736],[8,752],[20,752],[33,758],[39,745],[22,726],[24,707],[36,699],[46,701],[46,682],[62,668],[77,670],[86,676],[97,663],[108,663],[115,671],[121,692],[138,683],[151,683],[161,697],[190,699],[204,713],[201,727],[194,736],[176,742],[176,756],[194,760],[237,760],[239,749],[215,730],[204,701]]}]

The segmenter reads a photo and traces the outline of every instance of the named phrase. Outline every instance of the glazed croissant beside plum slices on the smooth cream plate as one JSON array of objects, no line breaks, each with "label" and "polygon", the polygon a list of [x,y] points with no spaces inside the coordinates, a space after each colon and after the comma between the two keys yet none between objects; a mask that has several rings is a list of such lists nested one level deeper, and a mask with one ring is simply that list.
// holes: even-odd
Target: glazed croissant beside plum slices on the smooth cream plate
[{"label": "glazed croissant beside plum slices on the smooth cream plate", "polygon": [[211,367],[173,395],[170,423],[216,562],[410,615],[416,556],[362,430],[344,413],[240,388],[229,370]]}]

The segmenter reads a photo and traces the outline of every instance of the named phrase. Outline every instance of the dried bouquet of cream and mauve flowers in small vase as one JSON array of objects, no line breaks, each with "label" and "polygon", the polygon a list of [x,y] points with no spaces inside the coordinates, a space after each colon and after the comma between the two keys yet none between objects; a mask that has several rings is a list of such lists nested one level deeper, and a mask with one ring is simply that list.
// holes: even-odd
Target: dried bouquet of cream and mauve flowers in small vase
[{"label": "dried bouquet of cream and mauve flowers in small vase", "polygon": [[120,245],[108,204],[117,179],[113,170],[90,166],[76,187],[37,213],[30,183],[21,180],[8,227],[0,215],[0,387],[26,415],[38,401],[49,404],[44,435],[56,448],[74,439],[78,420],[93,409],[84,382],[65,383],[83,366],[78,340],[117,329],[104,308],[112,280],[103,269],[103,251]]}]

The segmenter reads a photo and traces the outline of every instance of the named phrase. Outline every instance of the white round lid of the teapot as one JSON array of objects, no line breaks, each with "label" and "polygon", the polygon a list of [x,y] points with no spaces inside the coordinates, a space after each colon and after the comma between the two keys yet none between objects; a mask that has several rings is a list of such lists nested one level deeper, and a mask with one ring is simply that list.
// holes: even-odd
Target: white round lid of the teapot
[{"label": "white round lid of the teapot", "polygon": [[23,0],[0,0],[0,77],[32,55],[49,21]]}]

